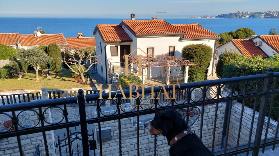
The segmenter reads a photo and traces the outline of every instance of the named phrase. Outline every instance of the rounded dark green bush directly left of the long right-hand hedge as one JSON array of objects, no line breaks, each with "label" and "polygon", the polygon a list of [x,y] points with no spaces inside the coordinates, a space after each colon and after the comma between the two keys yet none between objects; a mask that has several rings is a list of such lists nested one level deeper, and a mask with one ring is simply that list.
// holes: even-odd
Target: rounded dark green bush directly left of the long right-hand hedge
[{"label": "rounded dark green bush directly left of the long right-hand hedge", "polygon": [[225,51],[219,56],[219,60],[216,65],[217,77],[222,78],[223,69],[230,61],[236,60],[237,58],[243,58],[243,57],[246,56],[239,54],[236,50],[232,52],[232,49],[230,49],[230,52],[228,52],[227,49],[225,49]]}]

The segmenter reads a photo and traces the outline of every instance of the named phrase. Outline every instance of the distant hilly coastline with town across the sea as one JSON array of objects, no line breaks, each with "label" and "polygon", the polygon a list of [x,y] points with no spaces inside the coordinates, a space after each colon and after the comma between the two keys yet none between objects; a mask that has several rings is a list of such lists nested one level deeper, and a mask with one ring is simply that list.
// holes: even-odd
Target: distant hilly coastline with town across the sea
[{"label": "distant hilly coastline with town across the sea", "polygon": [[238,11],[229,14],[221,14],[218,16],[200,16],[200,17],[189,17],[189,18],[226,18],[226,19],[244,19],[244,18],[279,18],[279,11],[267,11],[267,12],[244,12]]}]

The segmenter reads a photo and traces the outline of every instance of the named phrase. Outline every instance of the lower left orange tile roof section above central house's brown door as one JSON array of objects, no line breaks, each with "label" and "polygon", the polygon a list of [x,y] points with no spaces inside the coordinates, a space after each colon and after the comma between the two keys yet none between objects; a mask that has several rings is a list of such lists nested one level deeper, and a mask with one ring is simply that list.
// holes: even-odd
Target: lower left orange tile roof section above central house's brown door
[{"label": "lower left orange tile roof section above central house's brown door", "polygon": [[128,34],[119,27],[118,24],[98,24],[97,25],[104,41],[132,41]]}]

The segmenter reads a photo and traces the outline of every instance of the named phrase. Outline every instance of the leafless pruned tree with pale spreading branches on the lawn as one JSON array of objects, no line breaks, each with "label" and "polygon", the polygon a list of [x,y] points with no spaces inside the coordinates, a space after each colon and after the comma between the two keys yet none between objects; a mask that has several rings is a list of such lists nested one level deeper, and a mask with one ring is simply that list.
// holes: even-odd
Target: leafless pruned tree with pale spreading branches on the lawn
[{"label": "leafless pruned tree with pale spreading branches on the lawn", "polygon": [[[62,58],[63,63],[65,63],[71,71],[81,76],[82,83],[85,84],[85,78],[83,76],[94,64],[100,64],[99,56],[96,56],[94,51],[95,47],[86,47],[78,49],[70,49],[68,51],[64,50],[64,57]],[[77,71],[75,71],[70,65],[75,65]],[[87,65],[87,69],[84,66]]]}]

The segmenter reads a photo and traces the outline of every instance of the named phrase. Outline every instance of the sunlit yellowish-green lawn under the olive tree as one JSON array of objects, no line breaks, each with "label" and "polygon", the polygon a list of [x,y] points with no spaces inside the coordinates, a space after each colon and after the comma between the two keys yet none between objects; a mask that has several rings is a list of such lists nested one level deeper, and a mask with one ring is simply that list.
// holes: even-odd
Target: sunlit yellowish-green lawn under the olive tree
[{"label": "sunlit yellowish-green lawn under the olive tree", "polygon": [[[35,70],[28,70],[27,74],[23,75],[22,80],[17,80],[17,77],[9,78],[0,81],[0,91],[3,90],[41,90],[42,87],[48,87],[48,89],[71,89],[71,88],[85,88],[90,85],[82,85],[81,79],[78,80],[71,77],[69,69],[62,70],[57,76],[53,72],[49,72],[52,78],[42,76],[39,70],[39,82],[35,82],[36,75]],[[78,80],[78,82],[76,82]]]}]

